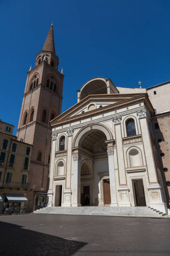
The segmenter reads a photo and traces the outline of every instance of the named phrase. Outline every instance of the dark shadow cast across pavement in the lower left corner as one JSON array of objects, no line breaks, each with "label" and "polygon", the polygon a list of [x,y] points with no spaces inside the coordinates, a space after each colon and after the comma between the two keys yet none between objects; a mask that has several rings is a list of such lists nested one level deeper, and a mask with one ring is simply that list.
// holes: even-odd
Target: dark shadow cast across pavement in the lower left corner
[{"label": "dark shadow cast across pavement in the lower left corner", "polygon": [[23,226],[0,222],[0,255],[65,255],[76,253],[86,243],[51,236]]}]

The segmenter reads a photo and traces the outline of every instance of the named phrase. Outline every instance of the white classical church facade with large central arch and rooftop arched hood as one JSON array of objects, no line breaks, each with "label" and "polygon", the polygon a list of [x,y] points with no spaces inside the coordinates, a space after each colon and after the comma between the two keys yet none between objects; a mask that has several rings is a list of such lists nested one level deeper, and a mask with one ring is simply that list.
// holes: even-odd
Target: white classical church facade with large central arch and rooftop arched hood
[{"label": "white classical church facade with large central arch and rooftop arched hood", "polygon": [[167,212],[145,89],[96,77],[52,120],[47,206],[148,206]]}]

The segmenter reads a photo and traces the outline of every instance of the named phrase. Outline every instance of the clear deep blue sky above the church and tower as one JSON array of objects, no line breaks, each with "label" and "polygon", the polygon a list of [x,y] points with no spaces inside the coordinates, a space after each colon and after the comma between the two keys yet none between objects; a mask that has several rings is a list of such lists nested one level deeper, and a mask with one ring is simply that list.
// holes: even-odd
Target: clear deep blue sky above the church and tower
[{"label": "clear deep blue sky above the church and tower", "polygon": [[169,0],[0,0],[0,118],[18,125],[27,72],[54,22],[62,111],[92,77],[147,88],[170,80]]}]

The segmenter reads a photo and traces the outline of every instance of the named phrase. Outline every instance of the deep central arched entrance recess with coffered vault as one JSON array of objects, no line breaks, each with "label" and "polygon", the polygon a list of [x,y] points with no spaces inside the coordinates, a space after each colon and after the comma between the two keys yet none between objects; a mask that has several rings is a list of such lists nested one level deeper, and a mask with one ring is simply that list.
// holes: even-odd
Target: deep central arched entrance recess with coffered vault
[{"label": "deep central arched entrance recess with coffered vault", "polygon": [[80,167],[81,204],[84,206],[100,205],[101,197],[105,198],[105,187],[102,189],[100,186],[101,174],[109,175],[105,141],[107,138],[103,131],[91,129],[82,135],[78,143],[82,159]]}]

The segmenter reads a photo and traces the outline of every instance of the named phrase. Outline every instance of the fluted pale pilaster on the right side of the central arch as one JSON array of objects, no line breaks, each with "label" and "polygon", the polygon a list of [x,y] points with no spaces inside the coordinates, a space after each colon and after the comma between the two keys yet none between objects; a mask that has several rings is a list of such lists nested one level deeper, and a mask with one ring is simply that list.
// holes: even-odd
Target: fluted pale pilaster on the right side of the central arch
[{"label": "fluted pale pilaster on the right side of the central arch", "polygon": [[115,180],[115,165],[113,158],[113,147],[107,147],[108,163],[109,163],[109,178],[110,178],[110,196],[111,204],[110,206],[117,205],[117,195],[116,195],[116,180]]}]

